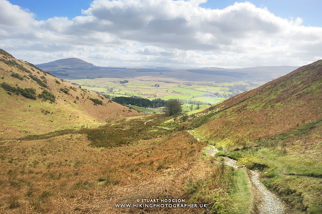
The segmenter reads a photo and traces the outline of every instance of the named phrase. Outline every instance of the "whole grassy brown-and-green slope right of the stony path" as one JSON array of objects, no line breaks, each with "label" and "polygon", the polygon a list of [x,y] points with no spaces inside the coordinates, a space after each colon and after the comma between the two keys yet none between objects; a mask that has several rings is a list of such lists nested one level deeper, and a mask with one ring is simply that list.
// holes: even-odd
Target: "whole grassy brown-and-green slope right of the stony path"
[{"label": "whole grassy brown-and-green slope right of the stony path", "polygon": [[[322,212],[322,61],[214,106],[193,126],[264,183],[292,212]],[[206,111],[206,112],[207,112]]]}]

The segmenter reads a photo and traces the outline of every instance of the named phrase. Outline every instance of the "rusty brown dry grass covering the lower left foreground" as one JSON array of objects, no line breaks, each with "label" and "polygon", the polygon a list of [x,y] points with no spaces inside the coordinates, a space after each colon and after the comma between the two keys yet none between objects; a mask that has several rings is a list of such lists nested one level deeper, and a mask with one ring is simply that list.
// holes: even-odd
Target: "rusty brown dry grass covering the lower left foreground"
[{"label": "rusty brown dry grass covering the lower left foreground", "polygon": [[182,184],[204,146],[186,131],[112,148],[91,143],[86,134],[2,141],[0,212],[173,212],[114,204],[183,198]]}]

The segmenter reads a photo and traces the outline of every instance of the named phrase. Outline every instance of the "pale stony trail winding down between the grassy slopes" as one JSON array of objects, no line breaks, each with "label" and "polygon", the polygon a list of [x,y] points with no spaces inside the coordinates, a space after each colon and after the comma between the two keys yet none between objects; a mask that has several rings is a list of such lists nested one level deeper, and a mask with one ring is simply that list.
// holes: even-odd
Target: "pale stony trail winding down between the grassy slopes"
[{"label": "pale stony trail winding down between the grassy slopes", "polygon": [[[193,132],[188,131],[189,134],[194,136],[197,141],[200,141],[199,138],[197,138]],[[214,156],[216,153],[218,153],[218,149],[215,148],[213,145],[208,145],[204,151],[209,156]],[[233,168],[239,168],[236,165],[236,161],[233,159],[230,159],[228,157],[223,157],[225,160],[225,164],[228,166],[231,166]],[[253,202],[253,211],[255,213],[287,213],[286,205],[285,203],[280,200],[273,192],[271,192],[269,189],[264,186],[264,184],[260,181],[260,172],[257,170],[250,170],[247,168],[240,168],[242,170],[246,170],[250,181],[252,183],[251,185],[251,192],[254,197]]]}]

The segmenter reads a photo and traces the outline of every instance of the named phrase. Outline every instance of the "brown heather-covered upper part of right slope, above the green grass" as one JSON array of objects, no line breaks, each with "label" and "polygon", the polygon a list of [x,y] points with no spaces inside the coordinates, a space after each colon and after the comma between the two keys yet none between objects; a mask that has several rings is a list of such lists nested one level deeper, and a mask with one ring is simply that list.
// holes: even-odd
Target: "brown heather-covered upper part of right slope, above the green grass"
[{"label": "brown heather-covered upper part of right slope, above the green grass", "polygon": [[197,131],[230,146],[281,134],[322,118],[322,60],[212,108],[218,112],[204,119]]}]

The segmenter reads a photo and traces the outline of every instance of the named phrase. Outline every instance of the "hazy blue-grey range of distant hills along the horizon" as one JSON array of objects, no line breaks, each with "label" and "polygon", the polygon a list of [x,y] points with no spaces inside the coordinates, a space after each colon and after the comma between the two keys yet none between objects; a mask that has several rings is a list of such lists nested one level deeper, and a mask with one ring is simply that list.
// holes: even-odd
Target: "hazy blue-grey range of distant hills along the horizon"
[{"label": "hazy blue-grey range of distant hills along the horizon", "polygon": [[[254,68],[199,68],[172,69],[157,66],[99,67],[77,58],[59,59],[37,65],[39,68],[64,79],[79,78],[133,78],[153,76],[185,81],[269,81],[298,68],[294,66],[265,66]],[[196,73],[198,75],[196,75]]]}]

